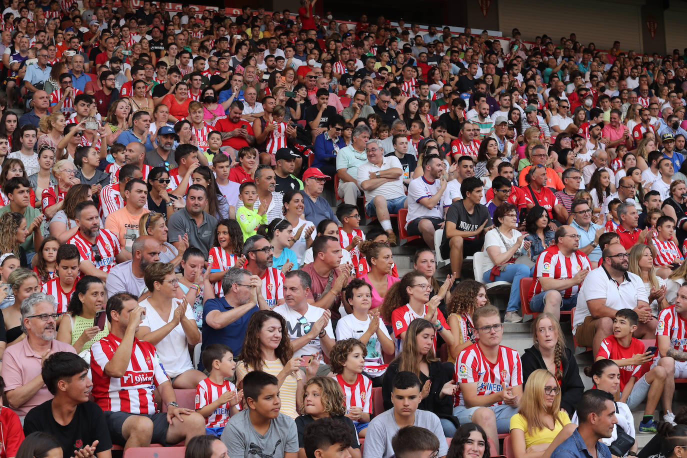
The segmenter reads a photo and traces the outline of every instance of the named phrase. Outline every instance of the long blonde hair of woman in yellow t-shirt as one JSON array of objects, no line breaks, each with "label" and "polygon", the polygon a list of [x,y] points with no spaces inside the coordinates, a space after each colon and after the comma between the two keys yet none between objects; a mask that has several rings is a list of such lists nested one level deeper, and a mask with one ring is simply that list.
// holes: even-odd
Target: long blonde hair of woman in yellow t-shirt
[{"label": "long blonde hair of woman in yellow t-shirt", "polygon": [[[551,407],[546,407],[544,404],[544,387],[550,378],[553,378],[556,382],[556,387],[559,388],[559,392],[556,393],[553,405]],[[537,369],[530,374],[525,384],[525,388],[523,389],[520,410],[518,411],[527,422],[526,433],[532,435],[540,429],[548,428],[544,422],[544,414],[551,415],[554,418],[554,426],[556,422],[559,422],[561,426],[563,426],[558,415],[561,410],[560,388],[561,385],[559,385],[554,374],[551,374],[546,369]]]}]

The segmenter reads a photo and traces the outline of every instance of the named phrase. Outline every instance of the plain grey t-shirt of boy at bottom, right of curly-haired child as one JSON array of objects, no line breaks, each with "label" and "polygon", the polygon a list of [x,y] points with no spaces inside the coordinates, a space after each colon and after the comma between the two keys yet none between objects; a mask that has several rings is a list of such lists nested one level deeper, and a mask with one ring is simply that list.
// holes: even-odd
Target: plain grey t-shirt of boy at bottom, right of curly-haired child
[{"label": "plain grey t-shirt of boy at bottom, right of curly-haired child", "polygon": [[[231,421],[231,420],[229,420]],[[414,426],[422,426],[429,429],[439,439],[439,455],[445,457],[449,453],[449,447],[444,439],[444,430],[436,414],[423,410],[415,411]],[[394,448],[391,439],[401,428],[398,428],[394,419],[394,409],[389,409],[377,415],[370,422],[368,432],[365,433],[365,448],[363,448],[363,458],[389,458],[394,455]],[[226,430],[225,430],[226,431]],[[231,450],[229,450],[231,455]]]}]

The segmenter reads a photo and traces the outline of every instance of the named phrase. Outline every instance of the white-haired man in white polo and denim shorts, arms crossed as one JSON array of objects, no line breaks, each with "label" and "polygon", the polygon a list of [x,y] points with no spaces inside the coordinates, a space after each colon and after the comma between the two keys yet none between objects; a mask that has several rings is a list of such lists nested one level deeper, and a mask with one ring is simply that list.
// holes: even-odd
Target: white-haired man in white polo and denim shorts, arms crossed
[{"label": "white-haired man in white polo and denim shorts, arms crossed", "polygon": [[382,229],[389,236],[389,242],[396,243],[390,214],[407,208],[403,187],[403,165],[398,157],[384,156],[380,140],[370,140],[365,144],[368,161],[362,163],[357,171],[357,182],[365,192],[365,213],[376,216]]}]

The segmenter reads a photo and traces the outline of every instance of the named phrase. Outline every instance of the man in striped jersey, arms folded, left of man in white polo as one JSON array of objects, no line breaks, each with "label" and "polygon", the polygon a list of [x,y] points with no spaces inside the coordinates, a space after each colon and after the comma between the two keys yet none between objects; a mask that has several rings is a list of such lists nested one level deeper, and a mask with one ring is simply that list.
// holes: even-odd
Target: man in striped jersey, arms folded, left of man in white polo
[{"label": "man in striped jersey, arms folded, left of man in white polo", "polygon": [[574,227],[563,225],[556,229],[554,244],[537,257],[528,296],[532,311],[549,312],[559,319],[561,310],[577,305],[580,285],[592,270],[589,258],[579,250],[579,240]]}]

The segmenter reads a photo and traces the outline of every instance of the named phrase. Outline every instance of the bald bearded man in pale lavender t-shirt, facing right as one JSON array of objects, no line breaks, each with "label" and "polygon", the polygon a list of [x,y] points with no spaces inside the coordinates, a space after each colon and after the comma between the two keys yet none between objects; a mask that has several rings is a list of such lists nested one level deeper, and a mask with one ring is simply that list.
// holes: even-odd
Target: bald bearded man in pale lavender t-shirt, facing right
[{"label": "bald bearded man in pale lavender t-shirt, facing right", "polygon": [[140,236],[131,245],[131,260],[117,264],[110,271],[105,282],[107,297],[115,293],[131,291],[139,296],[146,288],[143,279],[145,268],[160,260],[160,244],[151,236]]}]

